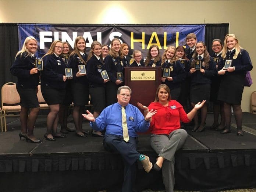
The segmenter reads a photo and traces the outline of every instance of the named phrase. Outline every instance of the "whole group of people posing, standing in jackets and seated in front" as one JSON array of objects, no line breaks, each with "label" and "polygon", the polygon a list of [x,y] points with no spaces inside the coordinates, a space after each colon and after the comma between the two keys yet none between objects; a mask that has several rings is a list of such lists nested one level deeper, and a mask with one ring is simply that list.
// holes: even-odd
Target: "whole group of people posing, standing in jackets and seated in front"
[{"label": "whole group of people posing, standing in jackets and seated in front", "polygon": [[[204,42],[197,42],[196,35],[186,37],[188,49],[183,46],[168,47],[160,56],[159,47],[149,48],[145,61],[141,51],[135,50],[133,57],[128,56],[127,44],[114,38],[111,49],[94,41],[89,55],[85,53],[86,41],[82,36],[75,39],[74,50],[67,42],[54,41],[49,51],[42,57],[43,70],[35,68],[35,53],[38,43],[28,37],[18,51],[10,71],[18,77],[17,90],[21,98],[20,138],[26,141],[40,142],[33,135],[33,128],[40,110],[36,93],[39,77],[42,95],[49,105],[45,138],[55,141],[64,138],[68,132],[75,131],[77,136],[86,137],[89,132],[82,129],[83,118],[90,121],[94,136],[103,136],[106,150],[118,152],[124,161],[124,184],[122,191],[132,191],[135,184],[135,162],[141,161],[146,172],[152,167],[162,170],[166,191],[174,188],[174,155],[186,140],[187,132],[181,128],[181,122],[194,120],[191,131],[205,129],[207,105],[214,103],[214,122],[211,128],[221,130],[222,134],[231,132],[231,106],[237,122],[237,135],[242,136],[241,99],[246,71],[252,70],[249,54],[244,50],[233,34],[225,36],[224,45],[220,39],[214,39],[210,56]],[[68,59],[63,55],[69,54]],[[226,60],[232,65],[226,67]],[[200,68],[196,62],[200,61]],[[81,73],[78,65],[85,65],[86,74]],[[162,84],[156,90],[154,102],[149,106],[138,103],[144,110],[144,117],[137,107],[129,104],[131,89],[117,77],[124,74],[124,67],[162,67],[169,69],[169,76],[163,75]],[[73,78],[65,76],[65,68],[72,68]],[[106,70],[109,76],[101,75]],[[88,102],[93,104],[93,112],[86,110]],[[67,127],[68,107],[74,103],[73,119],[75,130]],[[187,107],[191,104],[191,110]],[[198,110],[201,111],[199,121]],[[28,111],[30,110],[29,116]],[[186,111],[186,112],[185,112]],[[218,124],[218,115],[221,121]],[[57,132],[58,120],[61,124]],[[136,151],[138,135],[136,132],[150,130],[150,143],[159,154],[154,165],[144,154]],[[102,134],[102,131],[106,131]]]}]

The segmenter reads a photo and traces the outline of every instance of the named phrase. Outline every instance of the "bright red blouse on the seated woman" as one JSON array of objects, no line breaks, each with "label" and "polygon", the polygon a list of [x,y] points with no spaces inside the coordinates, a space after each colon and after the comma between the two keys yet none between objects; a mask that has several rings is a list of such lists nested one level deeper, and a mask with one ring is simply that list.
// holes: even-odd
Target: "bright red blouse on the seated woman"
[{"label": "bright red blouse on the seated woman", "polygon": [[176,100],[169,101],[168,107],[164,107],[159,102],[149,104],[149,110],[157,110],[152,117],[149,130],[152,134],[167,134],[181,127],[180,120],[188,123],[190,120],[182,105]]}]

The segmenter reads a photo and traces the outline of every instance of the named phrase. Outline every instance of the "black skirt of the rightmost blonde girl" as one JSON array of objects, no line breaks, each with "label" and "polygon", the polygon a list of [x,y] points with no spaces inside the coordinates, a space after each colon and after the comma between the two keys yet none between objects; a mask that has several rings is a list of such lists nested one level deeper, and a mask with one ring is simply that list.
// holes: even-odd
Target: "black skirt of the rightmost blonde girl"
[{"label": "black skirt of the rightmost blonde girl", "polygon": [[217,99],[225,103],[241,105],[245,77],[235,73],[222,76]]}]

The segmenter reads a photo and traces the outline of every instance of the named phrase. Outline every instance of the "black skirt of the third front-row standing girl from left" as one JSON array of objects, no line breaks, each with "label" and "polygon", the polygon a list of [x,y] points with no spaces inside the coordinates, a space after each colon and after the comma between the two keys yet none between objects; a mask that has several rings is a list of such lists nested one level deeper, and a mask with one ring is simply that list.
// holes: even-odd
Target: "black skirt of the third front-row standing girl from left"
[{"label": "black skirt of the third front-row standing girl from left", "polygon": [[87,83],[72,82],[71,88],[74,106],[88,105],[89,85]]}]

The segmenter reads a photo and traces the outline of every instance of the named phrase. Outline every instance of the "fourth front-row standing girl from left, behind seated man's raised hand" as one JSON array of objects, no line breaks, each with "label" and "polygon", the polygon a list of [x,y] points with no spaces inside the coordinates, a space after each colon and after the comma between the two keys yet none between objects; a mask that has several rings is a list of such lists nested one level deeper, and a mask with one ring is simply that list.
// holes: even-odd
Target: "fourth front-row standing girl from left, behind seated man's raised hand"
[{"label": "fourth front-row standing girl from left, behind seated man's raised hand", "polygon": [[[100,112],[106,107],[106,83],[109,79],[102,78],[102,71],[105,70],[102,58],[102,47],[100,42],[94,41],[88,56],[87,76],[89,79],[89,92],[93,103],[93,117],[97,118]],[[103,136],[100,131],[92,131],[92,136]]]}]

